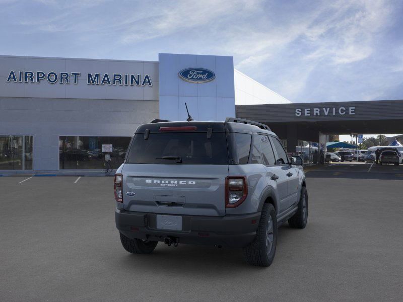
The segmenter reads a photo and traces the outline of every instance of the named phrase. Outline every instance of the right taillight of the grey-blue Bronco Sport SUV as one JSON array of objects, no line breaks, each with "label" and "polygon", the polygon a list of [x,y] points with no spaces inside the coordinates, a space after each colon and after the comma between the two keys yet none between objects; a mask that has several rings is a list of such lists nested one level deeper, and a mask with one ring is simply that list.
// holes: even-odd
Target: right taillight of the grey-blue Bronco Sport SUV
[{"label": "right taillight of the grey-blue Bronco Sport SUV", "polygon": [[240,205],[248,195],[245,176],[228,176],[225,178],[225,207],[234,208]]}]

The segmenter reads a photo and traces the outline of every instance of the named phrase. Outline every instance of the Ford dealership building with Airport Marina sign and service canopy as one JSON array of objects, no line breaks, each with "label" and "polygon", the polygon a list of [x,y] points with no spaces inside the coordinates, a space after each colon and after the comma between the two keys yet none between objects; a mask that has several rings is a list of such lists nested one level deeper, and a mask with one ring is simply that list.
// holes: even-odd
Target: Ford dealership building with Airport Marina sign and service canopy
[{"label": "Ford dealership building with Airport Marina sign and service canopy", "polygon": [[117,167],[140,124],[185,120],[185,103],[195,120],[265,123],[309,164],[319,162],[327,134],[397,133],[403,125],[401,100],[291,103],[234,69],[231,56],[0,56],[0,174],[102,169],[106,153]]}]

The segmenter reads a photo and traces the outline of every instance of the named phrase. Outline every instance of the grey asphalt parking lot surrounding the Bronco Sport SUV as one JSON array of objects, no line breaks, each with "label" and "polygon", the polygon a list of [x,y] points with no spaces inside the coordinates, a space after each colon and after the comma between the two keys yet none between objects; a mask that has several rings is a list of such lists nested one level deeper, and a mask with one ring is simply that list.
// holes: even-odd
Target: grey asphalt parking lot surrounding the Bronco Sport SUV
[{"label": "grey asphalt parking lot surrounding the Bronco Sport SUV", "polygon": [[403,165],[308,172],[308,225],[281,226],[268,268],[247,265],[241,250],[204,246],[160,243],[154,254],[131,255],[114,225],[112,177],[27,178],[0,177],[1,301],[403,296]]}]

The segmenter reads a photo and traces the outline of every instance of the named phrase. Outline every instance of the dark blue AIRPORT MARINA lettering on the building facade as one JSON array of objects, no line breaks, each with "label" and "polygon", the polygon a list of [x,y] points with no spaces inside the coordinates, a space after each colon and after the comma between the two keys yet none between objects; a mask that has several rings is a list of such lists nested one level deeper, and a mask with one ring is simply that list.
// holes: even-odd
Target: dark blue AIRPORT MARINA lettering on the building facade
[{"label": "dark blue AIRPORT MARINA lettering on the building facade", "polygon": [[[14,71],[10,70],[8,83],[41,83],[78,84],[82,77],[80,72],[44,72],[44,71]],[[118,85],[118,86],[153,86],[150,76],[145,74],[120,73],[87,73],[87,85]]]}]

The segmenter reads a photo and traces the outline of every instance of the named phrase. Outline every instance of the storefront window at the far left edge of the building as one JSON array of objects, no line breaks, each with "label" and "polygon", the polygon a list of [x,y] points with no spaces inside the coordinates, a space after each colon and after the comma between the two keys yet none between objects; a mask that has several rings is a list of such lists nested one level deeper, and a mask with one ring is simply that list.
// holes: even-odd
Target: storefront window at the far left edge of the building
[{"label": "storefront window at the far left edge of the building", "polygon": [[0,170],[32,170],[32,135],[0,135]]}]

